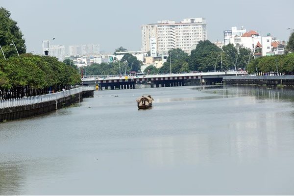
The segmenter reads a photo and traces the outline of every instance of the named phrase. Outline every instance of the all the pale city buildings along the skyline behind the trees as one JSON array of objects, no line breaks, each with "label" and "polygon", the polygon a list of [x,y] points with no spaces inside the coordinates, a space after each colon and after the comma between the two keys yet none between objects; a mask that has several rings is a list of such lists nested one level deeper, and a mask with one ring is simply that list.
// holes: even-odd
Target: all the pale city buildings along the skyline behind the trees
[{"label": "all the pale city buildings along the skyline behind the trees", "polygon": [[[293,31],[293,30],[292,30]],[[59,61],[70,58],[78,67],[91,64],[111,63],[123,58],[130,53],[143,62],[141,70],[149,65],[156,68],[163,66],[171,49],[182,49],[191,54],[196,49],[199,41],[207,39],[205,18],[188,18],[179,23],[172,20],[162,20],[155,24],[141,26],[142,49],[141,51],[125,51],[100,53],[100,45],[73,45],[66,50],[65,46],[50,45],[49,40],[43,41],[43,54],[55,56]],[[222,48],[228,44],[235,47],[251,49],[255,57],[284,54],[285,42],[272,37],[270,33],[261,36],[254,30],[246,31],[244,26],[238,29],[236,26],[223,31],[223,41],[214,42]]]}]

